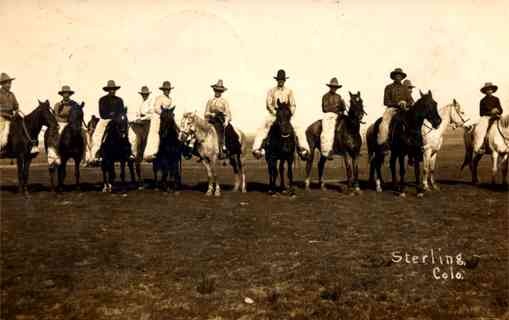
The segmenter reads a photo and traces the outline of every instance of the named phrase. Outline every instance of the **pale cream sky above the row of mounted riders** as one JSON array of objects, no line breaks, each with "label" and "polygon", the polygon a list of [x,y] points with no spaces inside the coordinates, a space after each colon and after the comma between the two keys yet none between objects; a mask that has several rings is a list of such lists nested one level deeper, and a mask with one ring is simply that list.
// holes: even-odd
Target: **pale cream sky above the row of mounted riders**
[{"label": "pale cream sky above the row of mounted riders", "polygon": [[296,122],[307,126],[333,76],[347,102],[349,90],[361,92],[367,121],[381,116],[389,73],[401,67],[440,106],[456,98],[475,118],[487,81],[509,108],[508,8],[508,0],[0,0],[0,71],[16,77],[23,111],[38,98],[56,103],[68,84],[87,119],[109,79],[130,112],[142,85],[158,95],[170,80],[180,115],[202,113],[221,78],[234,123],[253,132],[280,68]]}]

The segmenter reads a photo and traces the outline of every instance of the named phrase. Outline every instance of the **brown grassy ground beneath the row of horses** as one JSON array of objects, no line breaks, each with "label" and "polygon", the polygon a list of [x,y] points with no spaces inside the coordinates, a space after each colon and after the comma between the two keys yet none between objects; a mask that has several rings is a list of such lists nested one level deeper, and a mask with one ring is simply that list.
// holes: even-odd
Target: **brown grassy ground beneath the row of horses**
[{"label": "brown grassy ground beneath the row of horses", "polygon": [[[458,171],[461,139],[448,138],[441,191],[423,199],[414,188],[400,199],[365,182],[358,196],[331,182],[328,191],[298,189],[296,199],[269,197],[265,165],[253,160],[247,194],[205,198],[205,172],[193,161],[179,196],[101,193],[98,169],[83,169],[84,191],[55,195],[39,165],[25,199],[13,193],[15,169],[4,166],[1,318],[508,318],[507,189],[471,186]],[[329,179],[343,180],[341,165],[328,168]],[[366,171],[363,159],[363,181]],[[220,177],[228,191],[231,170]],[[462,254],[466,265],[453,268],[464,279],[436,280],[433,268],[446,265],[392,259],[431,249]]]}]

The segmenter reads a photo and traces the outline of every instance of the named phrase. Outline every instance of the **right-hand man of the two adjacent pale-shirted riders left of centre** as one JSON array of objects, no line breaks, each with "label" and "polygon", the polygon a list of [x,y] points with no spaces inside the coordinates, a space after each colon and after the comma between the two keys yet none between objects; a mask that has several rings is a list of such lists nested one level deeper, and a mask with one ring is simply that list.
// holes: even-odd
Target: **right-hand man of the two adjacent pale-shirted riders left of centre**
[{"label": "right-hand man of the two adjacent pale-shirted riders left of centre", "polygon": [[147,137],[147,146],[145,148],[145,161],[153,161],[156,157],[157,151],[159,150],[159,127],[161,125],[161,110],[170,109],[175,106],[173,99],[170,97],[171,90],[174,87],[171,86],[170,81],[164,81],[163,85],[159,88],[163,92],[158,96],[152,108],[149,108],[150,115],[150,128]]}]

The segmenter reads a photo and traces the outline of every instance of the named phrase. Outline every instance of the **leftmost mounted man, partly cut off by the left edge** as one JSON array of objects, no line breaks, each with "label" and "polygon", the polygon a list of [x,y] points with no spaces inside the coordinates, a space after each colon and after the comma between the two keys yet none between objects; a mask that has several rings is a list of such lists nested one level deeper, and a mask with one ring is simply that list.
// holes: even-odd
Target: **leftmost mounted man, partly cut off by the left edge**
[{"label": "leftmost mounted man, partly cut off by the left edge", "polygon": [[[15,78],[9,77],[6,73],[0,74],[0,155],[5,152],[5,147],[9,139],[11,121],[16,115],[23,118],[19,113],[18,100],[14,93],[11,92],[12,81]],[[30,153],[39,152],[37,141],[33,141]]]}]

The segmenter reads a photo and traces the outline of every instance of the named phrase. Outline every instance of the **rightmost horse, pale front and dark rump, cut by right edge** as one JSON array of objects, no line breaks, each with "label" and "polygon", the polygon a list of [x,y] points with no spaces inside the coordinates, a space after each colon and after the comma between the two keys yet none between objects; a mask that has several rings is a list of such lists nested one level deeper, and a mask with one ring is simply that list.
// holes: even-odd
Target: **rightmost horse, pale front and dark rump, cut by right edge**
[{"label": "rightmost horse, pale front and dark rump, cut by right edge", "polygon": [[[472,174],[472,183],[479,184],[479,176],[477,167],[483,154],[474,154],[473,148],[473,128],[465,128],[463,141],[465,144],[465,158],[461,165],[463,170],[467,165]],[[486,154],[491,155],[491,183],[495,185],[499,165],[502,165],[502,185],[507,186],[507,172],[509,166],[509,115],[495,120],[487,133],[488,143],[486,146]],[[499,162],[499,157],[502,159]]]}]

